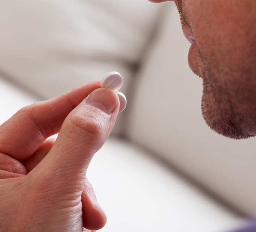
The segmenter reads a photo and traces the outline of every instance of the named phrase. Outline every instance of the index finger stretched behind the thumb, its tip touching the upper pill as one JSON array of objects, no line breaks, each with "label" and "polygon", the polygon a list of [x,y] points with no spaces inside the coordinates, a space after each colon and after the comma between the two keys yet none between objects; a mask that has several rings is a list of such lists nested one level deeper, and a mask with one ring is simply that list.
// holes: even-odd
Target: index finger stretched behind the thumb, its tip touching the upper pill
[{"label": "index finger stretched behind the thumb, its tip touching the upper pill", "polygon": [[101,87],[100,81],[92,81],[17,111],[0,125],[0,152],[18,160],[30,157],[45,139],[59,132],[70,111]]}]

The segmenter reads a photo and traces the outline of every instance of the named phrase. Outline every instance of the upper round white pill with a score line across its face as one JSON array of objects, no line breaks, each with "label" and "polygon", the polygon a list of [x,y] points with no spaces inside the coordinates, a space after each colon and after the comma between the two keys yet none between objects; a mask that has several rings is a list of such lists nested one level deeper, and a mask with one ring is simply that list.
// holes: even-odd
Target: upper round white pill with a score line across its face
[{"label": "upper round white pill with a score line across its face", "polygon": [[124,79],[118,72],[107,73],[101,80],[102,88],[111,88],[118,91],[123,85]]}]

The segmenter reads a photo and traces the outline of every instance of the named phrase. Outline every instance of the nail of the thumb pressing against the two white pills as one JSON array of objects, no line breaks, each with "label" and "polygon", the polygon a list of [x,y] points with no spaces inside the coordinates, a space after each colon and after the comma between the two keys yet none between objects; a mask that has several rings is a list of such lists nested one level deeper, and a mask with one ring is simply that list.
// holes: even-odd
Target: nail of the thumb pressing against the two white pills
[{"label": "nail of the thumb pressing against the two white pills", "polygon": [[99,108],[106,114],[111,114],[116,108],[117,100],[110,90],[99,88],[91,93],[87,103]]}]

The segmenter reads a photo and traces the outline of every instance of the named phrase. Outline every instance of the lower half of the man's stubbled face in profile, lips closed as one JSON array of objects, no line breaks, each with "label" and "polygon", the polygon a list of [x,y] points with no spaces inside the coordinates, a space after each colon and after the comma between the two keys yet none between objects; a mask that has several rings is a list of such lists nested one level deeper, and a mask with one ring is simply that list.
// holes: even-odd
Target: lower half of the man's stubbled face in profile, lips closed
[{"label": "lower half of the man's stubbled face in profile, lips closed", "polygon": [[191,43],[188,63],[203,78],[204,120],[230,138],[255,136],[256,1],[175,3],[184,35]]}]

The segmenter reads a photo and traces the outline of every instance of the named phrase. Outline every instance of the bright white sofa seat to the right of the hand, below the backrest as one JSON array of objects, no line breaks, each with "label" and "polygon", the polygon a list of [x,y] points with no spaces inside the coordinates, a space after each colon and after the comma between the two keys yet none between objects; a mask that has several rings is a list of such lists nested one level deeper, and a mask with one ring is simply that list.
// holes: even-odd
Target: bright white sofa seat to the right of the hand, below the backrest
[{"label": "bright white sofa seat to the right of the hand, below the backrest", "polygon": [[243,223],[130,142],[109,138],[87,176],[108,217],[102,232],[227,232]]}]

